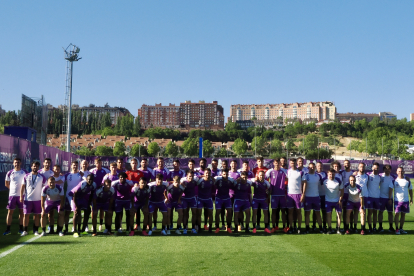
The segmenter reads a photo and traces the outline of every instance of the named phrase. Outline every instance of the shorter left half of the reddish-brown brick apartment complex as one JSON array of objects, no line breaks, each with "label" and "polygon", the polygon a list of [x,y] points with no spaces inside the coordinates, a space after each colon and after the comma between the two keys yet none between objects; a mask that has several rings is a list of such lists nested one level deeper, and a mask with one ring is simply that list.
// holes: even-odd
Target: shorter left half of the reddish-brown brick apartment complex
[{"label": "shorter left half of the reddish-brown brick apartment complex", "polygon": [[143,104],[138,109],[138,116],[143,128],[148,128],[151,125],[172,128],[180,126],[180,106],[171,103],[166,106],[160,103],[155,105]]}]

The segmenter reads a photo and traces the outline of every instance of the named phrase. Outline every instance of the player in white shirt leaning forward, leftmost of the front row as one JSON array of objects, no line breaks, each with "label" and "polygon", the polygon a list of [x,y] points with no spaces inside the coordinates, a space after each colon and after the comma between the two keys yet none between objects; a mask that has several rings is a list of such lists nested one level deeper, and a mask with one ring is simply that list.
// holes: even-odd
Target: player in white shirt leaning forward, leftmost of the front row
[{"label": "player in white shirt leaning forward, leftmost of the front row", "polygon": [[50,211],[54,209],[59,213],[57,232],[59,233],[59,236],[64,236],[62,229],[63,221],[65,219],[65,193],[62,186],[55,184],[55,178],[53,176],[49,177],[47,186],[43,188],[42,200],[40,203],[42,205],[42,218],[40,223],[43,230],[41,236],[46,236],[47,217]]}]

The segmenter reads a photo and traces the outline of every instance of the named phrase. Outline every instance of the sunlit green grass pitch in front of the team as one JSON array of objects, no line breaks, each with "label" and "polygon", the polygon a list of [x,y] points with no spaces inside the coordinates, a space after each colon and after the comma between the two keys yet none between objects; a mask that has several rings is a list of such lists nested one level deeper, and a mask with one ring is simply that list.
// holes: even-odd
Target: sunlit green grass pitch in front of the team
[{"label": "sunlit green grass pitch in front of the team", "polygon": [[[0,192],[1,233],[5,230],[7,192]],[[161,215],[159,215],[160,219]],[[262,218],[263,219],[263,218]],[[29,224],[31,225],[31,223]],[[388,229],[388,224],[384,224]],[[161,226],[160,224],[158,225]],[[0,236],[0,254],[31,238]],[[1,275],[413,275],[414,223],[408,235],[265,235],[186,236],[49,235],[0,258]]]}]

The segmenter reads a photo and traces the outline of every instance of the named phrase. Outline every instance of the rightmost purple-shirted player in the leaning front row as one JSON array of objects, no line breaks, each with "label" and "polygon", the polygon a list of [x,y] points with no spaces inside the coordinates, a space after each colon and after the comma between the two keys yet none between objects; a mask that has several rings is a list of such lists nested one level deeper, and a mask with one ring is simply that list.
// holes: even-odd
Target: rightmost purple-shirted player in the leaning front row
[{"label": "rightmost purple-shirted player in the leaning front row", "polygon": [[269,230],[269,201],[268,191],[270,189],[270,183],[264,178],[265,172],[259,171],[256,178],[252,182],[254,188],[252,209],[253,209],[253,234],[256,234],[256,219],[258,209],[261,208],[264,214],[265,233],[270,234]]}]

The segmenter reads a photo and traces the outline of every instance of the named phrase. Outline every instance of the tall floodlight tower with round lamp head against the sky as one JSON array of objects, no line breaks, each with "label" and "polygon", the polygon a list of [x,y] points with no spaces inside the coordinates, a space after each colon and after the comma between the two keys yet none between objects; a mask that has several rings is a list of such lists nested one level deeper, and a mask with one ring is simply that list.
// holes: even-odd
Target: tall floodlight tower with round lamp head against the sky
[{"label": "tall floodlight tower with round lamp head against the sky", "polygon": [[[67,110],[66,119],[66,151],[70,152],[70,132],[71,132],[71,115],[72,115],[72,77],[73,77],[73,62],[78,61],[81,57],[78,56],[80,49],[72,43],[68,47],[63,48],[65,51],[66,62],[66,92],[65,105]],[[65,132],[65,124],[63,125],[63,132]]]}]

